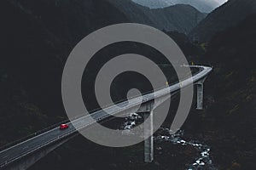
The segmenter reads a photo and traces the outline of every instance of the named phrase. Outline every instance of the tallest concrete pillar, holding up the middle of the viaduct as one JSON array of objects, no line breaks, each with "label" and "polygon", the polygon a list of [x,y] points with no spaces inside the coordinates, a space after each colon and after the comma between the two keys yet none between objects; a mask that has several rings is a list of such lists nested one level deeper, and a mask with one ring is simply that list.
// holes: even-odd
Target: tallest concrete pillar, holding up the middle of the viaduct
[{"label": "tallest concrete pillar, holding up the middle of the viaduct", "polygon": [[[154,160],[154,141],[153,141],[153,111],[143,113],[144,116],[144,135],[150,137],[144,140],[144,161],[152,162]],[[148,122],[145,123],[146,119]]]}]

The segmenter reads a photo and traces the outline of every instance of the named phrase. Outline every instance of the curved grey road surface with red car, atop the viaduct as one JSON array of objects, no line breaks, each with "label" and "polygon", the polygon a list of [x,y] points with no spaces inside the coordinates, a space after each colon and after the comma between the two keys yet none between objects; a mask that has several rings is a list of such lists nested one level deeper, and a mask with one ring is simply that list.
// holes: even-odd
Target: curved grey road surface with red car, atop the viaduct
[{"label": "curved grey road surface with red car, atop the viaduct", "polygon": [[[174,93],[180,88],[186,87],[194,82],[201,80],[204,77],[207,77],[207,75],[212,71],[211,67],[206,66],[189,67],[198,68],[199,72],[195,74],[193,77],[185,79],[182,82],[177,82],[176,84],[170,87],[162,88],[155,93],[143,95],[143,103],[146,103],[149,100],[153,100],[154,98],[158,98],[163,95],[169,94],[170,92]],[[140,105],[140,99],[131,99],[129,105]],[[119,103],[118,105],[122,107],[127,104],[127,101],[124,101]],[[119,111],[116,111],[116,107],[113,106],[108,107],[106,110],[108,110],[108,113],[113,113],[113,115],[118,114],[120,111],[123,111],[122,108],[119,108]],[[97,122],[107,119],[109,117],[109,115],[105,111],[96,111],[90,114],[90,116],[92,116]],[[95,121],[92,121],[91,118],[88,118],[88,116],[82,116],[76,120],[73,120],[72,123],[78,126],[79,128],[84,128],[90,126],[94,122]],[[5,167],[5,165],[8,165],[13,161],[19,160],[21,157],[24,157],[36,150],[39,150],[48,144],[52,144],[53,142],[56,142],[60,139],[64,139],[67,136],[72,135],[73,133],[77,133],[77,130],[73,127],[72,123],[68,122],[67,124],[69,125],[69,127],[65,130],[60,130],[59,127],[55,127],[47,132],[38,134],[37,136],[32,137],[31,139],[27,139],[26,141],[23,141],[20,144],[15,144],[14,146],[11,146],[6,150],[0,151],[0,167]]]}]

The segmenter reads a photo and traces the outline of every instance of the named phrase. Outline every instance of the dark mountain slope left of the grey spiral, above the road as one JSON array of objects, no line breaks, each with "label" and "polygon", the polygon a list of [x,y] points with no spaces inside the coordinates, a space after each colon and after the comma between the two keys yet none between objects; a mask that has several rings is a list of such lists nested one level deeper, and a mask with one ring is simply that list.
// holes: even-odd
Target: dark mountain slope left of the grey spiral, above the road
[{"label": "dark mountain slope left of the grey spiral, above the road", "polygon": [[3,0],[0,19],[0,145],[61,122],[72,48],[91,31],[129,22],[104,0]]}]

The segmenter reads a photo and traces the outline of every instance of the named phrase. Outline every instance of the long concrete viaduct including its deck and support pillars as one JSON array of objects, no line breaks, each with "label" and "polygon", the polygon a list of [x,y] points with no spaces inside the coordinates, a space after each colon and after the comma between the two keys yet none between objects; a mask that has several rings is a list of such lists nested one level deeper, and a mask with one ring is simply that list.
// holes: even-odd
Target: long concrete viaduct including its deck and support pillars
[{"label": "long concrete viaduct including its deck and support pillars", "polygon": [[[144,133],[150,133],[153,130],[153,111],[152,104],[155,102],[157,105],[162,104],[166,101],[166,94],[177,94],[181,88],[185,88],[191,84],[197,87],[197,109],[202,110],[203,108],[203,83],[207,78],[208,74],[212,71],[211,67],[207,66],[189,66],[198,69],[197,73],[191,78],[187,78],[181,82],[177,82],[166,88],[162,88],[157,92],[143,95],[143,102],[138,112],[144,114],[144,117],[148,117],[150,123],[144,125]],[[170,96],[170,95],[168,95]],[[132,99],[134,106],[140,105],[140,99]],[[127,105],[127,101],[118,104]],[[120,111],[122,110],[120,107]],[[109,106],[106,108],[108,113],[118,114],[120,111],[116,111],[117,108]],[[102,122],[108,120],[108,115],[105,111],[96,111],[90,114],[96,122]],[[55,150],[61,144],[64,144],[69,139],[72,139],[78,134],[73,125],[76,127],[86,128],[90,127],[93,123],[87,116],[81,116],[74,119],[72,122],[68,122],[69,127],[66,130],[60,130],[59,127],[52,127],[44,133],[38,133],[29,139],[20,141],[20,143],[10,146],[0,151],[0,169],[27,169],[31,167],[36,161],[46,156],[50,151]],[[144,161],[151,162],[154,159],[154,143],[153,136],[144,141]]]}]

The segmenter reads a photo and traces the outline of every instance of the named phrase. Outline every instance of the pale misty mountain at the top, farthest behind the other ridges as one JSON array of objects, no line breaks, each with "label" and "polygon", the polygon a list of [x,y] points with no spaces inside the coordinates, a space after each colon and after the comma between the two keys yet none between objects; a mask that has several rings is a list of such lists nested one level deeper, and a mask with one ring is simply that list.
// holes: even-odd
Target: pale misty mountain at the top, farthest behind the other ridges
[{"label": "pale misty mountain at the top, farthest behind the other ridges", "polygon": [[165,8],[175,4],[189,4],[203,13],[210,13],[226,0],[132,0],[148,8]]}]

